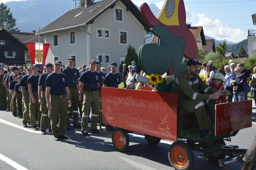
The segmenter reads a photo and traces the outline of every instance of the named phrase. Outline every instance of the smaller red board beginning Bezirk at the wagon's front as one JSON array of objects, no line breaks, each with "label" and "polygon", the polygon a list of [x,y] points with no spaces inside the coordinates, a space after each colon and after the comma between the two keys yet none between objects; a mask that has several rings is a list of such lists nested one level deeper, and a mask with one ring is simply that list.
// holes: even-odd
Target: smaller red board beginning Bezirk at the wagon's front
[{"label": "smaller red board beginning Bezirk at the wagon's front", "polygon": [[252,100],[215,105],[215,135],[252,126]]}]

